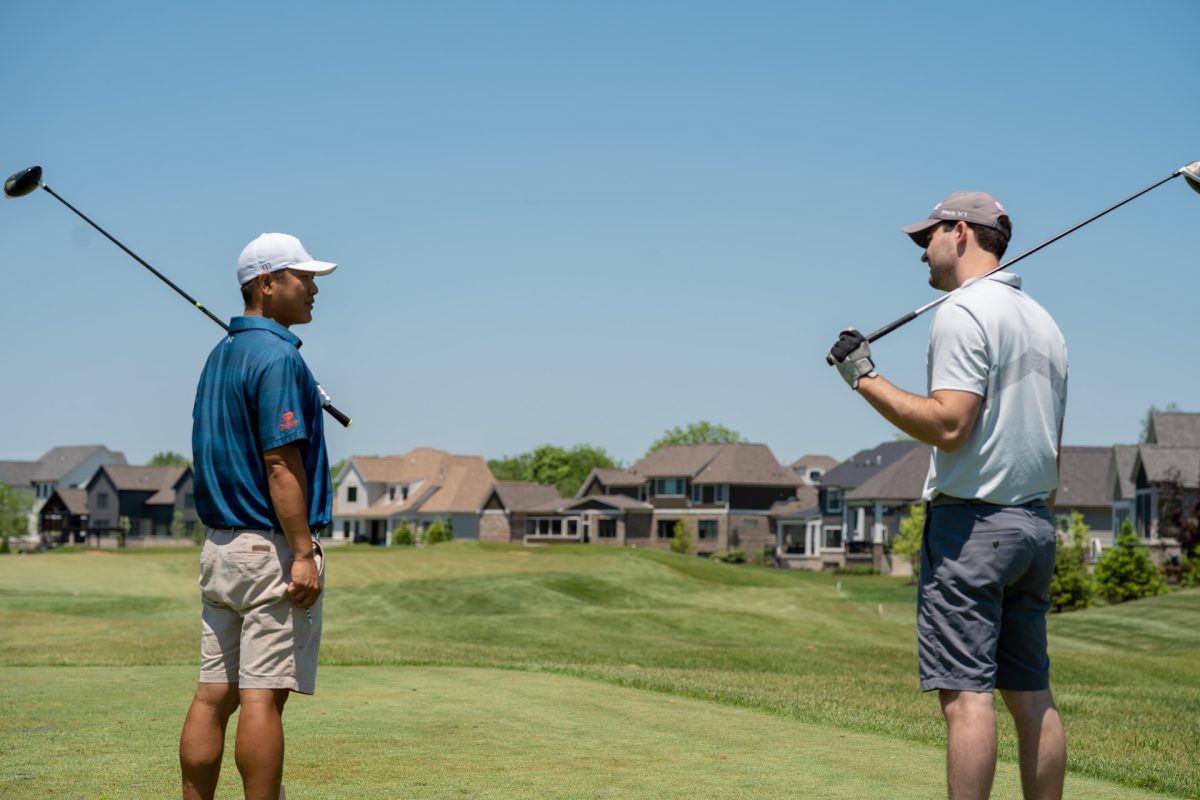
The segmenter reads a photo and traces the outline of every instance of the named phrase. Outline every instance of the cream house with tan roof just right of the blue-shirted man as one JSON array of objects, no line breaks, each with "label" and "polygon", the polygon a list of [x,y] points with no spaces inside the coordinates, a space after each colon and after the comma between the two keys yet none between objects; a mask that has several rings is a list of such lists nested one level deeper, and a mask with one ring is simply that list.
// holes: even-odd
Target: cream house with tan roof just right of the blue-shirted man
[{"label": "cream house with tan roof just right of the blue-shirted man", "polygon": [[407,523],[422,531],[436,519],[455,539],[479,539],[480,509],[496,481],[480,456],[416,447],[403,456],[354,456],[334,486],[335,542],[390,545]]}]

